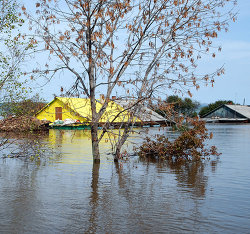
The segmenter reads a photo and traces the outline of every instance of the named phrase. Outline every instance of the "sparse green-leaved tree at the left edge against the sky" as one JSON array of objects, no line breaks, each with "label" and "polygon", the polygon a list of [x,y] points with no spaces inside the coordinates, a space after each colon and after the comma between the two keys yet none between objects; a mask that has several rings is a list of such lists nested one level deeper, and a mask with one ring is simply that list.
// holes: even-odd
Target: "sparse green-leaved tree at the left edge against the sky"
[{"label": "sparse green-leaved tree at the left edge against the sky", "polygon": [[0,0],[0,102],[23,98],[28,88],[21,81],[20,65],[24,61],[26,43],[20,42],[19,29],[23,19],[18,17],[14,0]]}]

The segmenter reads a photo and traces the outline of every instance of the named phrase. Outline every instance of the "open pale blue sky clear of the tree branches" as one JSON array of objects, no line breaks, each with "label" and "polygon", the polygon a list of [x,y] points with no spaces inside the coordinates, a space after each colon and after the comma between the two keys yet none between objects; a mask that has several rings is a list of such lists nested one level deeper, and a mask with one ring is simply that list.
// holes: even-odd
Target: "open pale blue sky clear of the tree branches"
[{"label": "open pale blue sky clear of the tree branches", "polygon": [[[27,3],[27,2],[26,2]],[[30,1],[30,4],[34,4]],[[200,103],[212,103],[217,100],[232,100],[235,103],[250,105],[250,0],[238,0],[238,16],[235,23],[230,23],[229,31],[222,33],[215,44],[222,47],[216,58],[209,58],[199,65],[202,74],[215,71],[224,66],[225,74],[215,79],[214,87],[192,90],[193,99]],[[67,74],[47,85],[38,81],[33,83],[34,92],[50,101],[54,94],[60,93],[61,84],[71,85]],[[69,82],[68,82],[69,81]],[[169,93],[171,95],[172,93]],[[185,96],[184,96],[185,97]]]}]

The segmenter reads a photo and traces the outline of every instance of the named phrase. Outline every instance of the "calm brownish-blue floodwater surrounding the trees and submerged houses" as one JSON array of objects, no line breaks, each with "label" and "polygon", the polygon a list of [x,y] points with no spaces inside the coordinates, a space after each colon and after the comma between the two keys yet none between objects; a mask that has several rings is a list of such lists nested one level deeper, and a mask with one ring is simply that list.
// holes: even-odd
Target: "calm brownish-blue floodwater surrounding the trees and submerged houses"
[{"label": "calm brownish-blue floodwater surrounding the trees and submerged houses", "polygon": [[51,130],[46,160],[0,159],[0,233],[250,233],[250,125],[208,128],[222,155],[181,166],[93,166],[88,134]]}]

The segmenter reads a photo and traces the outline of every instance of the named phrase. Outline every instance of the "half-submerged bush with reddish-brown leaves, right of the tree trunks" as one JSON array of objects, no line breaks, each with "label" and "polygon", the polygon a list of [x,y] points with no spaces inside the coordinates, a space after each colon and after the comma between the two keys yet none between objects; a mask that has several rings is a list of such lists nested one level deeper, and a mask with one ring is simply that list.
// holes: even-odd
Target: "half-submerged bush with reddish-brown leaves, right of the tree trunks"
[{"label": "half-submerged bush with reddish-brown leaves, right of the tree trunks", "polygon": [[200,160],[206,156],[216,155],[215,146],[208,147],[205,141],[213,137],[208,133],[205,122],[198,118],[189,119],[189,128],[181,132],[174,141],[164,135],[157,135],[156,139],[147,137],[138,149],[140,157],[159,158],[164,160]]}]

